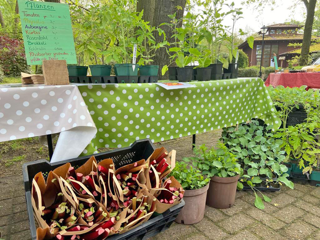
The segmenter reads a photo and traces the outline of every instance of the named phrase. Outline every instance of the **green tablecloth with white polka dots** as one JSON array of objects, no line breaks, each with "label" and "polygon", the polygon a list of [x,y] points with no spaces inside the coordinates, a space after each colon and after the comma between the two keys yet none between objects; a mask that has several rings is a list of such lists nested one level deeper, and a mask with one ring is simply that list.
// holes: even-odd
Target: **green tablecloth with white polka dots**
[{"label": "green tablecloth with white polka dots", "polygon": [[127,147],[138,139],[157,142],[208,132],[252,118],[275,129],[281,124],[260,78],[191,84],[196,87],[176,90],[148,83],[79,85],[98,129],[83,153]]}]

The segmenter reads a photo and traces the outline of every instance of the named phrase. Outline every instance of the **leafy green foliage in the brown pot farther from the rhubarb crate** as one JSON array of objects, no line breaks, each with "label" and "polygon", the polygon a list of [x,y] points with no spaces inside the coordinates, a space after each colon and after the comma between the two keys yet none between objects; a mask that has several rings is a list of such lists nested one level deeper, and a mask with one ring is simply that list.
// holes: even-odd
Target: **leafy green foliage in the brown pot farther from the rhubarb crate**
[{"label": "leafy green foliage in the brown pot farther from the rhubarb crate", "polygon": [[196,157],[184,158],[185,161],[192,160],[192,164],[208,177],[232,177],[241,172],[235,155],[221,142],[218,143],[218,149],[208,149],[203,144],[194,148],[194,153]]}]

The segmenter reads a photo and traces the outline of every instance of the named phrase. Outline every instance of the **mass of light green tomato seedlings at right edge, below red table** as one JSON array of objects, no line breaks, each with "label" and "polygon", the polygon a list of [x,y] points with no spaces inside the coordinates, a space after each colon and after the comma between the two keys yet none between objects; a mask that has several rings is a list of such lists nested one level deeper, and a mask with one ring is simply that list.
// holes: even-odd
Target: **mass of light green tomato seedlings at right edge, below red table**
[{"label": "mass of light green tomato seedlings at right edge, below red table", "polygon": [[[309,89],[306,86],[300,88],[276,88],[268,87],[268,92],[278,111],[276,115],[282,120],[283,128],[277,130],[274,135],[283,140],[281,148],[286,152],[286,160],[294,159],[299,163],[303,172],[311,172],[312,166],[317,165],[317,155],[320,153],[319,143],[316,140],[315,130],[320,128],[319,91]],[[302,105],[307,113],[307,119],[302,124],[287,126],[288,115]],[[308,167],[306,167],[308,165]],[[306,168],[305,168],[306,167]]]}]

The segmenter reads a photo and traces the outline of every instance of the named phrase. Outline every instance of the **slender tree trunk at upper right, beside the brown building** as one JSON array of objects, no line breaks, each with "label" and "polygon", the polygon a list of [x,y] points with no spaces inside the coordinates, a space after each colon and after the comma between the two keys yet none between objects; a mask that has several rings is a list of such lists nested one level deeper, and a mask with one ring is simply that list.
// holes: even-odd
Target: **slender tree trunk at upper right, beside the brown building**
[{"label": "slender tree trunk at upper right, beside the brown building", "polygon": [[313,18],[315,15],[316,0],[302,0],[307,8],[307,18],[304,26],[303,41],[301,46],[301,54],[299,59],[299,65],[305,66],[308,64]]}]

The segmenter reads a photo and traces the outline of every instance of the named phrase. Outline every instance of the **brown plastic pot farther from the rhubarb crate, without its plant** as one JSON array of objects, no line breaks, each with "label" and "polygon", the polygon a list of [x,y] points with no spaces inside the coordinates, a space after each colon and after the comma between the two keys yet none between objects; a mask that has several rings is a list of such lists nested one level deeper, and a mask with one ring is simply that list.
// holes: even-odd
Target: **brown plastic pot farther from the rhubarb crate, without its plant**
[{"label": "brown plastic pot farther from the rhubarb crate, without its plant", "polygon": [[237,182],[240,175],[228,178],[213,176],[206,204],[214,208],[229,208],[235,203]]}]

